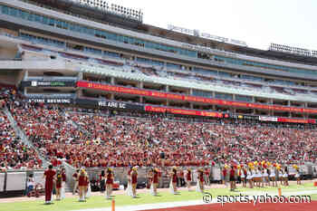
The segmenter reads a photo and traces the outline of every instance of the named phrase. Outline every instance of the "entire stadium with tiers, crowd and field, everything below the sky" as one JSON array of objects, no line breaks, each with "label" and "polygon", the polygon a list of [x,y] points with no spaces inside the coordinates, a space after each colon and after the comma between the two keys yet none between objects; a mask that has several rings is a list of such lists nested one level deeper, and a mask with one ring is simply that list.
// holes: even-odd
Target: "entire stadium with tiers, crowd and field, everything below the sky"
[{"label": "entire stadium with tiers, crowd and field, everything below the sky", "polygon": [[314,210],[316,128],[317,51],[0,0],[0,210]]}]

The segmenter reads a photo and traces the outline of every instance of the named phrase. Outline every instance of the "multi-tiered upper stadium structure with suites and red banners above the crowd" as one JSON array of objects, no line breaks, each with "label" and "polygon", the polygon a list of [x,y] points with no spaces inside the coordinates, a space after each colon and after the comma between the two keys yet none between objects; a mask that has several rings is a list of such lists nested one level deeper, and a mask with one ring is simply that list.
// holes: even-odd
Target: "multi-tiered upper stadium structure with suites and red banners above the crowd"
[{"label": "multi-tiered upper stadium structure with suites and red banners above the crowd", "polygon": [[316,123],[315,52],[184,34],[89,2],[0,0],[1,82],[30,102]]}]

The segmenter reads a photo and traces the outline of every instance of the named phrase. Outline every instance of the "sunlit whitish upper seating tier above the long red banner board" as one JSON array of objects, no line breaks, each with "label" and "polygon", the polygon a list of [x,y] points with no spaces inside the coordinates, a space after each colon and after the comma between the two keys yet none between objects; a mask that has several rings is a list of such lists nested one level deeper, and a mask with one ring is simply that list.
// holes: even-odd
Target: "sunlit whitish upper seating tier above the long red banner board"
[{"label": "sunlit whitish upper seating tier above the long red banner board", "polygon": [[[124,68],[98,65],[98,64],[80,64],[79,69],[81,72],[90,72],[95,74],[102,74],[111,77],[122,78],[126,80],[134,80],[140,82],[155,82],[159,84],[165,84],[170,86],[178,86],[184,88],[198,89],[204,91],[219,91],[232,94],[243,94],[247,96],[257,96],[263,98],[273,98],[283,101],[312,101],[317,102],[314,94],[301,94],[293,93],[294,95],[287,95],[274,91],[270,87],[261,87],[256,89],[254,87],[249,87],[246,84],[240,86],[225,84],[223,81],[216,82],[202,82],[195,80],[194,77],[180,78],[177,76],[168,76],[167,72],[159,72],[159,76],[156,75],[146,75],[140,72],[137,68],[125,65]],[[133,72],[132,72],[133,71]],[[169,71],[168,71],[169,72]],[[261,83],[260,83],[261,84]]]}]

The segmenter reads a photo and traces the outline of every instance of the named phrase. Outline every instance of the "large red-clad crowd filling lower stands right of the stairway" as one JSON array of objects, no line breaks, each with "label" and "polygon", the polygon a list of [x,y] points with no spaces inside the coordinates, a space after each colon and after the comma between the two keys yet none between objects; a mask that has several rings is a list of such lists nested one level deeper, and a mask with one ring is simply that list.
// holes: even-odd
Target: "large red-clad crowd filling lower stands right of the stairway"
[{"label": "large red-clad crowd filling lower stands right of the stairway", "polygon": [[43,104],[15,106],[11,111],[54,164],[62,159],[74,167],[316,161],[317,132],[309,128],[123,117]]}]

